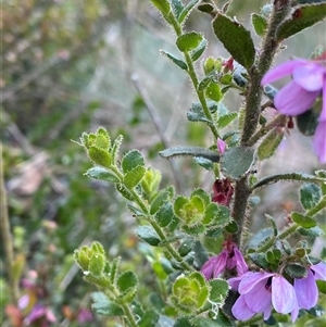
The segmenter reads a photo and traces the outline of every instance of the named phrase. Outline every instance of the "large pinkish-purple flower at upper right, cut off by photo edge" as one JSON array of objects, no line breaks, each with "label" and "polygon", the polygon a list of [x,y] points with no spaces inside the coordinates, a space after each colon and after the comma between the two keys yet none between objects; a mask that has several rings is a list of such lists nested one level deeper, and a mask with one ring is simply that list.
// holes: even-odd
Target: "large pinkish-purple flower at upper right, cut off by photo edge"
[{"label": "large pinkish-purple flower at upper right, cut off by photo edge", "polygon": [[288,75],[292,75],[292,80],[276,93],[274,104],[280,113],[297,116],[310,110],[317,97],[323,96],[314,151],[321,163],[326,163],[326,66],[321,61],[290,60],[268,71],[261,84],[264,86]]}]

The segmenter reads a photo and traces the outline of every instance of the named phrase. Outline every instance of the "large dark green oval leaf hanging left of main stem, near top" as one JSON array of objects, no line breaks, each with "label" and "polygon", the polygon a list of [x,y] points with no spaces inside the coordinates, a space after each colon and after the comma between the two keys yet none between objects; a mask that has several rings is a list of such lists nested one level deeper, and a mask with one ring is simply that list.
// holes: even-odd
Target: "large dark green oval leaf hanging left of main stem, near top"
[{"label": "large dark green oval leaf hanging left of main stem, near top", "polygon": [[247,70],[253,65],[255,50],[249,30],[221,13],[213,21],[213,30],[225,49],[239,64]]}]

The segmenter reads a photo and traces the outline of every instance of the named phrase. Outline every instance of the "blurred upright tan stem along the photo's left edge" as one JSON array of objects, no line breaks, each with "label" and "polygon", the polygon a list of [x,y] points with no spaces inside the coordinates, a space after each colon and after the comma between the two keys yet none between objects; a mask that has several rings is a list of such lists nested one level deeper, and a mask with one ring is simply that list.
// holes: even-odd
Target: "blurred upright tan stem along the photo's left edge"
[{"label": "blurred upright tan stem along the photo's left edge", "polygon": [[5,253],[5,259],[8,263],[8,276],[9,276],[9,287],[11,301],[16,304],[18,301],[18,284],[15,279],[14,274],[14,251],[12,234],[10,230],[10,221],[8,214],[8,203],[7,203],[7,191],[4,187],[4,172],[3,172],[3,155],[2,155],[2,143],[0,142],[0,214],[1,214],[1,230],[2,230],[2,241]]}]

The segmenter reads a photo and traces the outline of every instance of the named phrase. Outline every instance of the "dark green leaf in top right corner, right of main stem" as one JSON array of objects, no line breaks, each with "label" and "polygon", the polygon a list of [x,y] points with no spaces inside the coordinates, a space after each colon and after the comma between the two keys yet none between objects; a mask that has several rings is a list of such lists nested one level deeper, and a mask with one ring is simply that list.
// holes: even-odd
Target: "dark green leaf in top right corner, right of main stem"
[{"label": "dark green leaf in top right corner, right of main stem", "polygon": [[297,7],[289,20],[286,20],[276,32],[278,42],[294,34],[322,22],[326,17],[326,3]]}]

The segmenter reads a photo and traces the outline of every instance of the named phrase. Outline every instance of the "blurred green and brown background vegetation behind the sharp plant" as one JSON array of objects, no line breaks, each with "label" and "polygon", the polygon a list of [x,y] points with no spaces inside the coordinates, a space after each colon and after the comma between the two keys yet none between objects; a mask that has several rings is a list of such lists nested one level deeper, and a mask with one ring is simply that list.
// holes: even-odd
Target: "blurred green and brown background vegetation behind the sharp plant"
[{"label": "blurred green and brown background vegetation behind the sharp plant", "polygon": [[[246,7],[267,1],[244,2],[235,0],[231,10],[242,22],[247,14],[249,25]],[[140,149],[163,171],[163,183],[174,183],[168,165],[156,155],[163,146],[148,103],[131,81],[137,74],[172,144],[209,141],[203,126],[186,123],[185,111],[193,100],[186,76],[159,54],[161,48],[176,52],[173,35],[147,0],[4,0],[1,16],[3,173],[17,275],[33,279],[33,286],[21,284],[21,295],[50,307],[57,326],[116,326],[100,317],[80,318],[93,289],[73,264],[74,249],[99,240],[112,256],[126,259],[148,286],[143,302],[149,289],[161,287],[147,274],[152,268],[143,259],[156,254],[138,244],[134,218],[114,188],[83,176],[90,164],[71,140],[99,125],[113,137],[122,133],[125,147]],[[195,13],[187,24],[212,39],[206,16]],[[206,55],[212,54],[226,55],[214,41]],[[212,176],[192,161],[180,160],[176,168],[183,172],[179,191],[210,190]],[[7,306],[2,247],[0,253],[3,326],[22,326],[30,307],[17,316]],[[28,326],[39,326],[40,319]]]}]

